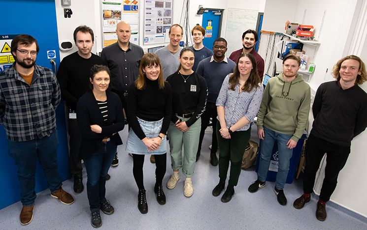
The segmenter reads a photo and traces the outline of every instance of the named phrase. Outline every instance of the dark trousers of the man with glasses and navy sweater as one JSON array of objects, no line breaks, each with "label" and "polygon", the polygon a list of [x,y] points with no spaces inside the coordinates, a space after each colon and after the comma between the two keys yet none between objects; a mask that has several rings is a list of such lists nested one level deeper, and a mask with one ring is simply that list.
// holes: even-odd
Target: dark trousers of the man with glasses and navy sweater
[{"label": "dark trousers of the man with glasses and navy sweater", "polygon": [[211,135],[211,150],[210,153],[217,152],[218,149],[218,142],[217,142],[217,135],[215,134],[216,126],[217,126],[217,106],[215,103],[206,102],[206,110],[201,115],[201,130],[200,130],[200,137],[199,137],[199,147],[198,152],[201,150],[202,140],[204,139],[205,129],[208,127],[210,117],[212,118],[213,124],[213,133]]}]

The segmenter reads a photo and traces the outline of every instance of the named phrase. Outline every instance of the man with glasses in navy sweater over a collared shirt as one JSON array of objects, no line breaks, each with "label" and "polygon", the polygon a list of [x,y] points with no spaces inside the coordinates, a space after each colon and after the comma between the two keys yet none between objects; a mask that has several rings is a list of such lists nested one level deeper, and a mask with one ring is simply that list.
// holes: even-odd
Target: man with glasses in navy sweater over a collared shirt
[{"label": "man with glasses in navy sweater over a collared shirt", "polygon": [[215,128],[218,114],[215,103],[225,77],[233,72],[236,64],[233,60],[225,56],[227,52],[226,39],[222,37],[217,38],[213,44],[213,52],[213,56],[200,61],[196,71],[200,76],[205,78],[206,85],[208,87],[206,110],[201,116],[200,140],[196,160],[198,161],[200,157],[201,143],[202,139],[204,138],[205,129],[208,127],[210,118],[212,118],[213,133],[212,146],[210,149],[210,164],[212,166],[217,166],[218,158],[216,152],[218,149],[218,143],[217,136],[215,134]]}]

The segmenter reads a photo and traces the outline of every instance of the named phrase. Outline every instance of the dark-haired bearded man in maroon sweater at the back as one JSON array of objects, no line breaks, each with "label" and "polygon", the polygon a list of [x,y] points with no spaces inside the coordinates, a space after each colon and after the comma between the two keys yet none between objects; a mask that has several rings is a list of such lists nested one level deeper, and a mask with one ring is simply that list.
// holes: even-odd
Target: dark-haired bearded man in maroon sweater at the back
[{"label": "dark-haired bearded man in maroon sweater at the back", "polygon": [[234,62],[238,62],[238,58],[241,54],[252,54],[255,57],[256,66],[260,80],[263,81],[264,76],[264,59],[255,51],[255,46],[258,41],[258,34],[253,29],[247,29],[242,34],[242,46],[243,48],[232,52],[230,59]]}]

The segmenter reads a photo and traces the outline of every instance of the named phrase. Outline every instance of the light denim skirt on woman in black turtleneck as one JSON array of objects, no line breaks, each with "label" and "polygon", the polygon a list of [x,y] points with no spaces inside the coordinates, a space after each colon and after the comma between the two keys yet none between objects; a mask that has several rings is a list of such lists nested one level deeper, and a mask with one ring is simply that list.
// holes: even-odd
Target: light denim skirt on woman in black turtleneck
[{"label": "light denim skirt on woman in black turtleneck", "polygon": [[[137,117],[141,130],[143,130],[147,138],[155,138],[161,132],[163,118],[157,121],[146,121]],[[128,153],[147,155],[147,154],[165,154],[167,152],[167,139],[162,141],[158,149],[148,152],[147,146],[136,136],[133,129],[130,129],[128,141],[126,144],[126,151]]]}]

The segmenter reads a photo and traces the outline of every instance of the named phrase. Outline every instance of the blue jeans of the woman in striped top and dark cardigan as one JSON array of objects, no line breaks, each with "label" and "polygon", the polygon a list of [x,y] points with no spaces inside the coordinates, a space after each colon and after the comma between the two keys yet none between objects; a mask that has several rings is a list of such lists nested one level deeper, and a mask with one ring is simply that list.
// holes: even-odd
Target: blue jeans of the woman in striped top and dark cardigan
[{"label": "blue jeans of the woman in striped top and dark cardigan", "polygon": [[91,211],[100,209],[100,202],[105,201],[106,175],[115,156],[117,145],[113,141],[103,144],[102,148],[84,159],[87,171],[87,194]]}]

